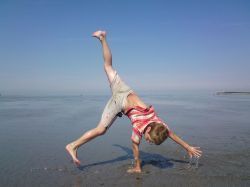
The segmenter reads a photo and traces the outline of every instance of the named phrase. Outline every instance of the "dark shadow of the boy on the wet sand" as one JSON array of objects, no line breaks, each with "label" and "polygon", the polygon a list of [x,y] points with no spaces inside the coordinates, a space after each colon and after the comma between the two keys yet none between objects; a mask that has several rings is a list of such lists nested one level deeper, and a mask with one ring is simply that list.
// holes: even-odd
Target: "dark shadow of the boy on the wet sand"
[{"label": "dark shadow of the boy on the wet sand", "polygon": [[[113,164],[115,162],[121,162],[121,161],[132,160],[133,159],[133,151],[132,151],[132,149],[130,149],[128,147],[125,147],[125,146],[117,145],[117,144],[114,144],[113,146],[122,149],[126,154],[123,155],[123,156],[119,156],[119,157],[117,157],[115,159],[111,159],[111,160],[96,162],[96,163],[87,164],[87,165],[81,165],[81,166],[78,167],[78,169],[85,170],[85,169],[88,169],[88,168],[90,168],[92,166],[104,165],[104,164]],[[140,158],[142,160],[142,164],[141,164],[142,167],[144,167],[145,165],[153,165],[153,166],[161,168],[161,169],[172,168],[173,165],[174,165],[173,162],[185,163],[185,164],[188,163],[187,161],[166,158],[166,157],[163,157],[160,154],[146,153],[146,152],[143,152],[143,151],[140,151]]]}]

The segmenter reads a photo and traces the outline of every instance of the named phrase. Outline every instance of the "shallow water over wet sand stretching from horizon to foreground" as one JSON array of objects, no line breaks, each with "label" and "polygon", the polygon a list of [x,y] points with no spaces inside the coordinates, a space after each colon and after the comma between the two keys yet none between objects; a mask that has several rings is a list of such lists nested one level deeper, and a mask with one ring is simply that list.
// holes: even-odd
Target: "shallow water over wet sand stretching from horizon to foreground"
[{"label": "shallow water over wet sand stretching from horizon to foreground", "polygon": [[107,95],[0,97],[0,186],[249,186],[250,96],[213,93],[142,95],[181,138],[200,146],[198,164],[171,140],[140,146],[142,174],[131,167],[131,125],[79,149],[76,168],[65,145],[98,123]]}]

